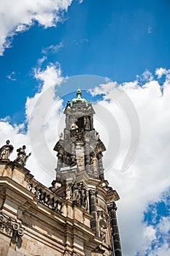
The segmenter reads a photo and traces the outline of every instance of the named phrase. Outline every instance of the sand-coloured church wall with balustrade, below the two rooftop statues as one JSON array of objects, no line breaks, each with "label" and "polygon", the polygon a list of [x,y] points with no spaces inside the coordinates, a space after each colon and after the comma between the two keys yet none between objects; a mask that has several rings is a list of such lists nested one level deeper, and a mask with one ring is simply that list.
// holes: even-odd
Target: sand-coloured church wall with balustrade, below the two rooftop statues
[{"label": "sand-coloured church wall with balustrade, below the two rooftop statues", "polygon": [[0,173],[0,256],[88,256],[101,244],[85,207],[9,160],[0,161]]}]

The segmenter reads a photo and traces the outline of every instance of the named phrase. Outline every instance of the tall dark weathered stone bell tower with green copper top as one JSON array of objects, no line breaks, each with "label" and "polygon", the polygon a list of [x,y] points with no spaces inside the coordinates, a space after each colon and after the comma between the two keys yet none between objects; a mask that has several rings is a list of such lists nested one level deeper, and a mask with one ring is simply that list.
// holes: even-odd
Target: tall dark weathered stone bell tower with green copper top
[{"label": "tall dark weathered stone bell tower with green copper top", "polygon": [[[74,222],[77,220],[84,225],[80,225],[80,236],[77,233],[72,242],[69,238],[66,241],[68,255],[72,255],[71,249],[81,247],[82,254],[78,255],[121,256],[115,205],[119,196],[104,179],[102,152],[106,148],[93,127],[95,112],[91,102],[87,103],[78,89],[77,98],[67,102],[63,113],[66,127],[54,147],[58,163],[51,190],[72,203]],[[93,231],[90,237],[85,216],[89,217]]]}]

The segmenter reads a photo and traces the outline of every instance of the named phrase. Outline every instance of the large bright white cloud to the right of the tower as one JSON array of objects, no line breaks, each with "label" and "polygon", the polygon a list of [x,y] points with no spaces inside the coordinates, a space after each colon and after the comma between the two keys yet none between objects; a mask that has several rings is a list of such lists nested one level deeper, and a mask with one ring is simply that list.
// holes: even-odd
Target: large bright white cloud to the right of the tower
[{"label": "large bright white cloud to the right of the tower", "polygon": [[[123,252],[126,256],[136,255],[136,252],[140,252],[140,255],[143,256],[144,252],[146,253],[147,249],[150,249],[154,235],[154,229],[150,227],[152,236],[146,239],[148,227],[142,223],[143,212],[148,203],[159,200],[161,193],[170,187],[170,83],[167,77],[163,86],[163,95],[157,80],[147,81],[143,86],[137,86],[136,81],[123,83],[121,88],[134,103],[141,129],[139,152],[133,164],[124,172],[117,170],[117,163],[120,165],[123,162],[123,157],[127,154],[128,142],[125,142],[124,138],[130,141],[131,131],[128,122],[125,121],[125,114],[123,117],[123,110],[121,116],[121,111],[117,110],[119,106],[117,106],[116,100],[113,100],[116,98],[117,84],[101,85],[93,92],[105,94],[104,107],[112,112],[120,127],[122,138],[120,154],[112,168],[107,170],[106,177],[120,194],[120,201],[117,202],[117,214]],[[109,102],[106,102],[106,99],[109,99]],[[107,121],[107,124],[111,125],[110,120]],[[115,138],[115,141],[117,139],[114,130],[109,134],[109,140],[112,138]],[[114,147],[114,139],[112,145]],[[124,155],[121,154],[123,151]],[[110,155],[111,157],[112,155]],[[107,163],[104,162],[104,165],[106,166]]]}]

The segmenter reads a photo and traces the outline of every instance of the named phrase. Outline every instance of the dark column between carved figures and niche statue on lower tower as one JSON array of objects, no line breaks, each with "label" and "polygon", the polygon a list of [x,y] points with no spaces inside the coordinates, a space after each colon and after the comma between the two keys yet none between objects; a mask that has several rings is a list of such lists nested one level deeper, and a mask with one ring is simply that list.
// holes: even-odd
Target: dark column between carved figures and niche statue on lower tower
[{"label": "dark column between carved figures and niche statue on lower tower", "polygon": [[92,230],[95,231],[96,235],[97,234],[97,223],[96,223],[96,213],[97,213],[97,208],[96,208],[96,190],[90,190],[90,214],[93,216],[93,219],[91,219],[91,228]]}]

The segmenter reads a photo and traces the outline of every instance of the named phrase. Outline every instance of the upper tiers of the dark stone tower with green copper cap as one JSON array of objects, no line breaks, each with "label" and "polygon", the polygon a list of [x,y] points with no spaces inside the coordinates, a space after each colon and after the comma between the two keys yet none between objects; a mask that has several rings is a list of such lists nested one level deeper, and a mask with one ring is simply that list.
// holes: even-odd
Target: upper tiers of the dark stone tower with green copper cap
[{"label": "upper tiers of the dark stone tower with green copper cap", "polygon": [[103,180],[102,152],[106,148],[93,127],[93,107],[86,104],[80,89],[77,98],[72,99],[72,105],[67,102],[64,113],[66,128],[63,139],[60,138],[54,147],[58,151],[57,178],[72,179],[83,174],[86,178]]}]

